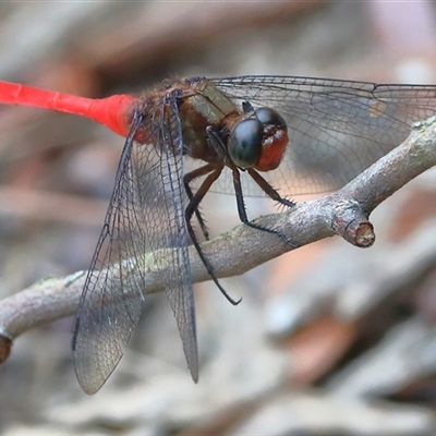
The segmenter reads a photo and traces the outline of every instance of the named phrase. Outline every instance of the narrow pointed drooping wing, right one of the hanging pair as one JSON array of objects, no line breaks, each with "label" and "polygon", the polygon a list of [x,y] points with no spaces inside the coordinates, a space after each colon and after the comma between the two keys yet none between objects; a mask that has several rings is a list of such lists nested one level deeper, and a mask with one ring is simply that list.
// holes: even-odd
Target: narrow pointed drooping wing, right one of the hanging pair
[{"label": "narrow pointed drooping wing, right one of the hanging pair", "polygon": [[[154,120],[155,136],[159,137],[161,159],[159,172],[164,183],[159,202],[166,210],[161,218],[167,229],[160,232],[160,246],[170,246],[169,274],[164,275],[165,290],[173,311],[187,366],[194,382],[198,379],[198,351],[195,326],[195,306],[191,267],[187,253],[187,230],[185,223],[186,194],[183,185],[183,138],[177,101],[162,101],[158,118]],[[154,199],[156,202],[156,199]],[[159,249],[156,246],[155,249]],[[155,250],[154,250],[155,251]],[[156,252],[155,252],[156,253]],[[162,268],[164,269],[164,268]]]}]

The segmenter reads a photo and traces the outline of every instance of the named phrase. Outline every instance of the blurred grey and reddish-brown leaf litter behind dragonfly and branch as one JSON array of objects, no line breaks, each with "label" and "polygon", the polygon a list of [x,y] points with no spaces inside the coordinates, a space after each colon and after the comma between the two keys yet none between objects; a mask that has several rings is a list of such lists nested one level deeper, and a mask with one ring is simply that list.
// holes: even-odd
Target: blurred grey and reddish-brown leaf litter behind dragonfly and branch
[{"label": "blurred grey and reddish-brown leaf litter behind dragonfly and branch", "polygon": [[[0,2],[0,78],[89,97],[173,74],[436,83],[435,34],[424,1]],[[88,267],[122,145],[88,120],[0,106],[1,298]],[[222,280],[237,307],[195,286],[198,385],[165,295],[94,397],[71,318],[26,332],[0,367],[1,434],[435,434],[435,180],[375,211],[370,250],[334,238]],[[204,210],[215,235],[239,222],[233,197]]]}]

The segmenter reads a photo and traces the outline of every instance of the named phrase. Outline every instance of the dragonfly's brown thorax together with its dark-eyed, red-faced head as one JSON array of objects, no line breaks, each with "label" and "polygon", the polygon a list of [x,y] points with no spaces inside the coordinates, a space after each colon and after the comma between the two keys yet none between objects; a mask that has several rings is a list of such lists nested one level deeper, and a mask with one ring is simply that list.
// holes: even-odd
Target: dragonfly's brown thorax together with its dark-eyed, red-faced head
[{"label": "dragonfly's brown thorax together with its dark-eyed, red-faced head", "polygon": [[[250,102],[240,110],[205,78],[186,81],[185,85],[178,97],[184,154],[217,166],[259,171],[280,165],[288,128],[279,112],[268,107],[254,110]],[[246,108],[251,108],[250,113]]]}]

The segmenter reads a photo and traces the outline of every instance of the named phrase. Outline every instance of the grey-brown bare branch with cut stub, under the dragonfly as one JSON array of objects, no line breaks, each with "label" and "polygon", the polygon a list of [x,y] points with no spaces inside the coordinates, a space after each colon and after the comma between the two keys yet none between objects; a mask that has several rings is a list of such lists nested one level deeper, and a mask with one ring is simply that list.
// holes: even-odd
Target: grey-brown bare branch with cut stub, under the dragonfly
[{"label": "grey-brown bare branch with cut stub, under the dragonfly", "polygon": [[[410,136],[341,190],[313,202],[298,204],[282,214],[261,217],[256,223],[278,230],[295,246],[334,234],[360,247],[375,241],[370,214],[405,183],[436,165],[436,121],[415,123]],[[280,238],[241,225],[203,244],[218,278],[241,275],[294,250]],[[165,255],[165,251],[162,251]],[[145,265],[153,265],[152,253]],[[147,262],[148,261],[148,262]],[[195,249],[190,247],[193,282],[208,280]],[[72,315],[86,271],[41,280],[0,302],[0,363],[8,359],[14,338],[33,327]],[[144,293],[162,291],[160,274],[149,269]]]}]

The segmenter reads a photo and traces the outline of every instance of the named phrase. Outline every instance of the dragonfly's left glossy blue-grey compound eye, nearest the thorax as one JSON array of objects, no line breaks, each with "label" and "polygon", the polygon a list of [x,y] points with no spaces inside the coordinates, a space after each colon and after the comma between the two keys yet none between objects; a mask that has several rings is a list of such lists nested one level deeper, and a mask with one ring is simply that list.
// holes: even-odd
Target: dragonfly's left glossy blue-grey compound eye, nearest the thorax
[{"label": "dragonfly's left glossy blue-grey compound eye, nearest the thorax", "polygon": [[237,167],[254,167],[262,153],[264,124],[254,118],[239,122],[232,130],[229,141],[230,158]]}]

